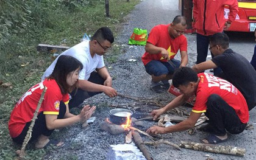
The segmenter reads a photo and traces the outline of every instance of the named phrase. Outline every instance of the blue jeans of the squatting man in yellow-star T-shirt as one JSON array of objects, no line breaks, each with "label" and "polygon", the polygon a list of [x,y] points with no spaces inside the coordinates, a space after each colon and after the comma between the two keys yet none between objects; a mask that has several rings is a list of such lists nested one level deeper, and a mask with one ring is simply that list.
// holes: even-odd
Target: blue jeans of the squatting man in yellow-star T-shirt
[{"label": "blue jeans of the squatting man in yellow-star T-shirt", "polygon": [[152,60],[149,61],[148,64],[146,64],[145,69],[146,72],[149,75],[154,75],[154,76],[160,76],[163,74],[173,74],[174,70],[176,68],[179,68],[180,66],[180,61],[179,60],[170,60],[174,66],[172,66],[171,64],[169,64],[168,62],[165,61],[158,61],[158,60]]}]

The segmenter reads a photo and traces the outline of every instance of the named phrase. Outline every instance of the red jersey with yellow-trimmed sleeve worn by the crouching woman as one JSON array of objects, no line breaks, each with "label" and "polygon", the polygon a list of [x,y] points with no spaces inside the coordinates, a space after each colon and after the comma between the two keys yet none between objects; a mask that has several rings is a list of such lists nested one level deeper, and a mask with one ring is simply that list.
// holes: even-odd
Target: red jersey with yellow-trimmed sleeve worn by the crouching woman
[{"label": "red jersey with yellow-trimmed sleeve worn by the crouching woman", "polygon": [[47,89],[38,114],[43,112],[43,114],[59,115],[60,101],[62,100],[65,104],[68,103],[69,94],[63,95],[55,80],[44,80],[32,86],[16,103],[10,114],[9,131],[11,137],[19,136],[26,123],[32,120],[43,92],[43,86],[46,86]]}]

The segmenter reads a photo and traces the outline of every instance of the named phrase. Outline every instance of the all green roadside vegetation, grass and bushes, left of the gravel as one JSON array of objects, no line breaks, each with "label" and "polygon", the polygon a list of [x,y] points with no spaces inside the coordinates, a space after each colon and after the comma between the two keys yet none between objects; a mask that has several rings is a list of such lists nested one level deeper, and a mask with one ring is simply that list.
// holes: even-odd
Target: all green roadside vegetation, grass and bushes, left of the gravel
[{"label": "all green roadside vegetation, grass and bushes, left of the gravel", "polygon": [[[107,26],[118,35],[119,24],[140,0],[0,0],[0,159],[15,159],[20,146],[9,136],[8,121],[15,103],[51,64],[53,52],[37,52],[38,44],[74,46],[84,33]],[[115,61],[118,46],[110,50]],[[109,55],[109,56],[110,56]],[[46,149],[27,146],[26,159],[43,159]],[[76,158],[75,158],[76,159]]]}]

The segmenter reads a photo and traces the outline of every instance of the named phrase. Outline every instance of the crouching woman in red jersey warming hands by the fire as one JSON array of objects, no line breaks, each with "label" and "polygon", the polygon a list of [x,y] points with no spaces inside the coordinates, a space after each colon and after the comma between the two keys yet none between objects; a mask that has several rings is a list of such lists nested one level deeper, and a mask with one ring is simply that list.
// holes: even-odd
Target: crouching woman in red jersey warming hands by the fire
[{"label": "crouching woman in red jersey warming hands by the fire", "polygon": [[[43,82],[32,86],[21,97],[13,108],[9,120],[9,132],[14,142],[23,144],[44,87],[47,89],[29,141],[36,141],[35,148],[57,144],[48,138],[54,129],[85,122],[91,117],[96,106],[84,106],[77,116],[69,113],[68,108],[68,93],[77,87],[78,75],[82,68],[82,63],[76,58],[61,55],[52,74]],[[61,107],[60,103],[65,103],[65,107]]]}]

